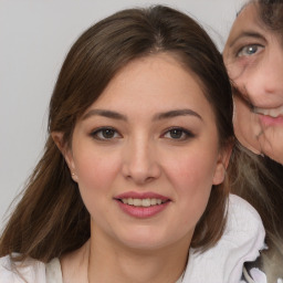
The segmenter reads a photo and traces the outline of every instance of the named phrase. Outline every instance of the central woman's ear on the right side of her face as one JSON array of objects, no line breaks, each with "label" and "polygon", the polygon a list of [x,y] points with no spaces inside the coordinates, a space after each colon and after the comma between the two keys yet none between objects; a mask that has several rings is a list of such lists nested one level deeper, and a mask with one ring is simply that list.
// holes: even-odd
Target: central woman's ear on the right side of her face
[{"label": "central woman's ear on the right side of her face", "polygon": [[229,165],[232,148],[233,148],[233,145],[231,144],[231,145],[223,147],[220,150],[220,153],[218,155],[214,176],[213,176],[213,185],[219,185],[224,181],[226,170]]}]

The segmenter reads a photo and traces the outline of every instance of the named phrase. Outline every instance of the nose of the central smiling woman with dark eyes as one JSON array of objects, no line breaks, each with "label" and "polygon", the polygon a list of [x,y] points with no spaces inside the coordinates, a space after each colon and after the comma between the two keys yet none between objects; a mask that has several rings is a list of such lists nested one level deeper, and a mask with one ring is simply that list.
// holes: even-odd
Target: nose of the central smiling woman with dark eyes
[{"label": "nose of the central smiling woman with dark eyes", "polygon": [[148,184],[161,175],[158,154],[153,143],[138,138],[128,143],[123,151],[122,174],[136,185]]}]

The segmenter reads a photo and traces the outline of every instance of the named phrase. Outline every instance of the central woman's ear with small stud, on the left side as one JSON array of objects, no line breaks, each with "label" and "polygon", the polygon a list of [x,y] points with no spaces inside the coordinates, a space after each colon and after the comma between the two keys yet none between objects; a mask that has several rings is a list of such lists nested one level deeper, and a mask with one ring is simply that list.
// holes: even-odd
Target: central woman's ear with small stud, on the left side
[{"label": "central woman's ear with small stud, on the left side", "polygon": [[57,146],[59,150],[63,155],[63,157],[67,164],[67,167],[71,171],[71,176],[72,176],[73,180],[77,181],[77,176],[75,174],[75,164],[74,164],[73,153],[72,153],[72,149],[69,147],[69,145],[66,145],[66,143],[64,143],[63,133],[52,132],[51,136],[52,136],[55,145]]}]

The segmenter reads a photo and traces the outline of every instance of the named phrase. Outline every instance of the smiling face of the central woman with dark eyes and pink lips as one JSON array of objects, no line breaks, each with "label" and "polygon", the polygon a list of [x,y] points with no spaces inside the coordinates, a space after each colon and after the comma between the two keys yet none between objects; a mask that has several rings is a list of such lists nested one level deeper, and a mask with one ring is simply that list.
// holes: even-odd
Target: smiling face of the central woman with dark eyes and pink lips
[{"label": "smiling face of the central woman with dark eyes and pink lips", "polygon": [[168,54],[119,71],[77,122],[65,157],[92,237],[137,249],[188,248],[224,177],[212,108]]}]

